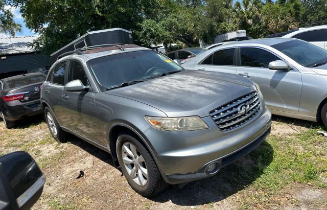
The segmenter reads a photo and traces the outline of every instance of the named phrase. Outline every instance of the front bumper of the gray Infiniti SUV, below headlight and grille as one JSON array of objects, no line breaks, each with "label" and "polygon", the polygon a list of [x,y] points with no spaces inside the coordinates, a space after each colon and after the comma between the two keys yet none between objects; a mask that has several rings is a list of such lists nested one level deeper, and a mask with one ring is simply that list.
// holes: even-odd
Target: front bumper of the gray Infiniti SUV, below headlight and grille
[{"label": "front bumper of the gray Infiniti SUV, below headlight and grille", "polygon": [[167,182],[177,184],[212,176],[205,173],[211,162],[223,167],[252,151],[270,131],[271,112],[265,107],[252,121],[224,132],[210,116],[203,120],[209,129],[171,132],[152,128],[145,132]]}]

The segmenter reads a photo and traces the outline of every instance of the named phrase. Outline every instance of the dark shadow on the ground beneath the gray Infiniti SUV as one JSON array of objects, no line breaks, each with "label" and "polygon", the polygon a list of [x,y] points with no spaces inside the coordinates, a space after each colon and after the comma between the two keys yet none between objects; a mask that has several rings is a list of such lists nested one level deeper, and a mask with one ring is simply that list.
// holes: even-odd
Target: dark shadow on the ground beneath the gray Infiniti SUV
[{"label": "dark shadow on the ground beneath the gray Infiniti SUV", "polygon": [[[69,142],[114,167],[109,153],[75,136],[69,137]],[[216,176],[191,182],[182,189],[178,185],[170,185],[164,192],[150,199],[155,202],[171,200],[174,204],[184,206],[223,200],[258,178],[263,173],[260,166],[268,166],[272,157],[273,149],[265,141],[250,154],[223,168]]]}]

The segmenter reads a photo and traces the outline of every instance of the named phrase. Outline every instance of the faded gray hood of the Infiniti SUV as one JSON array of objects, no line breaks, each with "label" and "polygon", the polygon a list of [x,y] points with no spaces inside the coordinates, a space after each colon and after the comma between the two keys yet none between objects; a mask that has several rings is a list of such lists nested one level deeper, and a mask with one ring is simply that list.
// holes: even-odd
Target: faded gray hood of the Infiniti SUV
[{"label": "faded gray hood of the Infiniti SUV", "polygon": [[107,90],[106,94],[155,107],[167,116],[208,116],[209,111],[253,91],[247,78],[218,72],[183,71],[134,85]]}]

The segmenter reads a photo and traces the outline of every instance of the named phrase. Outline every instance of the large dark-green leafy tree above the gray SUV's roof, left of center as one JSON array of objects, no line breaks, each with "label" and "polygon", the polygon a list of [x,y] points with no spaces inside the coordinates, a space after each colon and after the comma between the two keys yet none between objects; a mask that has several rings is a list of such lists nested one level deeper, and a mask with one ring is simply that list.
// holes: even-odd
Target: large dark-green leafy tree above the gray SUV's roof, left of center
[{"label": "large dark-green leafy tree above the gray SUV's roof, left of center", "polygon": [[[40,33],[35,49],[51,54],[87,31],[124,28],[139,31],[144,19],[160,14],[157,0],[11,0],[28,28]],[[134,37],[138,41],[138,37]]]}]

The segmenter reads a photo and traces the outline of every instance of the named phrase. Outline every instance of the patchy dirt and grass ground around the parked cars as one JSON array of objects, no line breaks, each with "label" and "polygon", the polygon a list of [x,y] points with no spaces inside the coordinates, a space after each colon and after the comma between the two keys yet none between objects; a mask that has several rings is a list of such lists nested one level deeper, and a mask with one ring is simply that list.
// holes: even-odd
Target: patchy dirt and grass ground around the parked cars
[{"label": "patchy dirt and grass ground around the parked cars", "polygon": [[[47,180],[33,209],[327,209],[327,137],[316,134],[321,129],[274,116],[260,148],[212,178],[182,189],[171,185],[150,199],[130,188],[108,153],[74,136],[55,142],[41,116],[11,130],[0,122],[0,155],[25,150],[38,162]],[[76,179],[79,171],[85,175]]]}]

